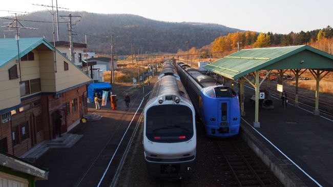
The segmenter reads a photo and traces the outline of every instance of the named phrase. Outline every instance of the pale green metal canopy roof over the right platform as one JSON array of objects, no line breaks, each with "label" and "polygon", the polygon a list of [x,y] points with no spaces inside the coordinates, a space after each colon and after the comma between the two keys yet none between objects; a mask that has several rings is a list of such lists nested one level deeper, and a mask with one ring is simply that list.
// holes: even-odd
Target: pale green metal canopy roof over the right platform
[{"label": "pale green metal canopy roof over the right platform", "polygon": [[203,68],[230,79],[240,78],[256,70],[333,71],[333,55],[307,45],[243,49]]}]

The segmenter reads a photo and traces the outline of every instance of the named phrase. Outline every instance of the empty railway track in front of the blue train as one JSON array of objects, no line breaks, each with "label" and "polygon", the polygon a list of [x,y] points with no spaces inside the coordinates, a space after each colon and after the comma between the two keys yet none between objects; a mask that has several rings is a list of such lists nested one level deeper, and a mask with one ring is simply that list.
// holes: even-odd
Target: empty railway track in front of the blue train
[{"label": "empty railway track in front of the blue train", "polygon": [[214,142],[229,170],[225,175],[234,177],[234,181],[231,180],[228,186],[274,186],[270,183],[270,171],[253,159],[249,153],[251,150],[234,140],[216,139]]}]

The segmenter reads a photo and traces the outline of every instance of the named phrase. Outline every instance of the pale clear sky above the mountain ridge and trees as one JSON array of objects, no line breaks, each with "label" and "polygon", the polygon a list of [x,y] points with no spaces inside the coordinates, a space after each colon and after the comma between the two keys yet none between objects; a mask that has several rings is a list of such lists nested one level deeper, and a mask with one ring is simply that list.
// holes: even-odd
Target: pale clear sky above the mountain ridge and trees
[{"label": "pale clear sky above the mountain ridge and trees", "polygon": [[[53,1],[55,5],[56,0]],[[52,0],[5,0],[1,2],[0,10],[45,10],[32,3],[51,5]],[[71,11],[128,13],[166,22],[215,23],[281,34],[333,26],[333,0],[58,0],[58,6]],[[0,11],[0,16],[8,15],[8,12]]]}]

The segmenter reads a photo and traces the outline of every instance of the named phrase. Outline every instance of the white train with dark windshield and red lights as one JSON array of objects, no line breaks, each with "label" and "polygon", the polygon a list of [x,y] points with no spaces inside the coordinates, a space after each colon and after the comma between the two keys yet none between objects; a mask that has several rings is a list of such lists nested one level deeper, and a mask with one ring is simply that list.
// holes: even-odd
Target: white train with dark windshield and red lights
[{"label": "white train with dark windshield and red lights", "polygon": [[144,108],[143,148],[150,175],[164,179],[192,176],[195,109],[174,75],[159,77]]}]

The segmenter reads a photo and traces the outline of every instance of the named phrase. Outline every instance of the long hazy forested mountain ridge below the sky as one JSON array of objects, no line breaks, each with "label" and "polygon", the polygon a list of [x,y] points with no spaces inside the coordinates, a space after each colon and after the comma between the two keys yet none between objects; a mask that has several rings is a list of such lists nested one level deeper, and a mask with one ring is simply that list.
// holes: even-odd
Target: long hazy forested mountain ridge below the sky
[{"label": "long hazy forested mountain ridge below the sky", "polygon": [[[70,13],[82,17],[73,27],[74,42],[85,43],[85,36],[82,33],[87,33],[89,49],[101,52],[111,51],[111,33],[114,36],[115,53],[130,54],[131,42],[134,43],[136,53],[139,48],[141,52],[141,46],[143,52],[177,52],[178,49],[186,50],[186,41],[189,41],[189,48],[201,48],[209,45],[219,36],[241,31],[218,24],[162,22],[132,14],[59,11],[59,15],[69,15]],[[48,11],[38,11],[20,16],[19,19],[51,22],[52,16]],[[75,20],[78,20],[78,18],[72,19],[73,24]],[[59,22],[67,21],[68,17],[59,17]],[[22,29],[21,37],[45,36],[47,40],[53,41],[51,23],[26,21],[21,21],[21,23],[26,27],[38,28],[37,30]],[[7,37],[14,37],[13,32],[4,32],[6,29],[0,28],[2,35],[5,33]],[[59,33],[59,40],[69,40],[66,23],[59,23]]]}]

